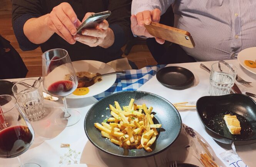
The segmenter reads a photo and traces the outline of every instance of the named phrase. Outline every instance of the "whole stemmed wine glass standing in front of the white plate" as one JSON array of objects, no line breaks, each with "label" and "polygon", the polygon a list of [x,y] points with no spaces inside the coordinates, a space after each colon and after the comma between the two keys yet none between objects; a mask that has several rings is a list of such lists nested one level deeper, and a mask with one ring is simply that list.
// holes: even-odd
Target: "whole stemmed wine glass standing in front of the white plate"
[{"label": "whole stemmed wine glass standing in front of the white plate", "polygon": [[72,126],[80,120],[80,113],[67,109],[66,96],[77,88],[77,76],[64,49],[52,49],[42,55],[43,86],[45,91],[62,98],[65,112],[56,116],[55,122],[61,127]]}]

